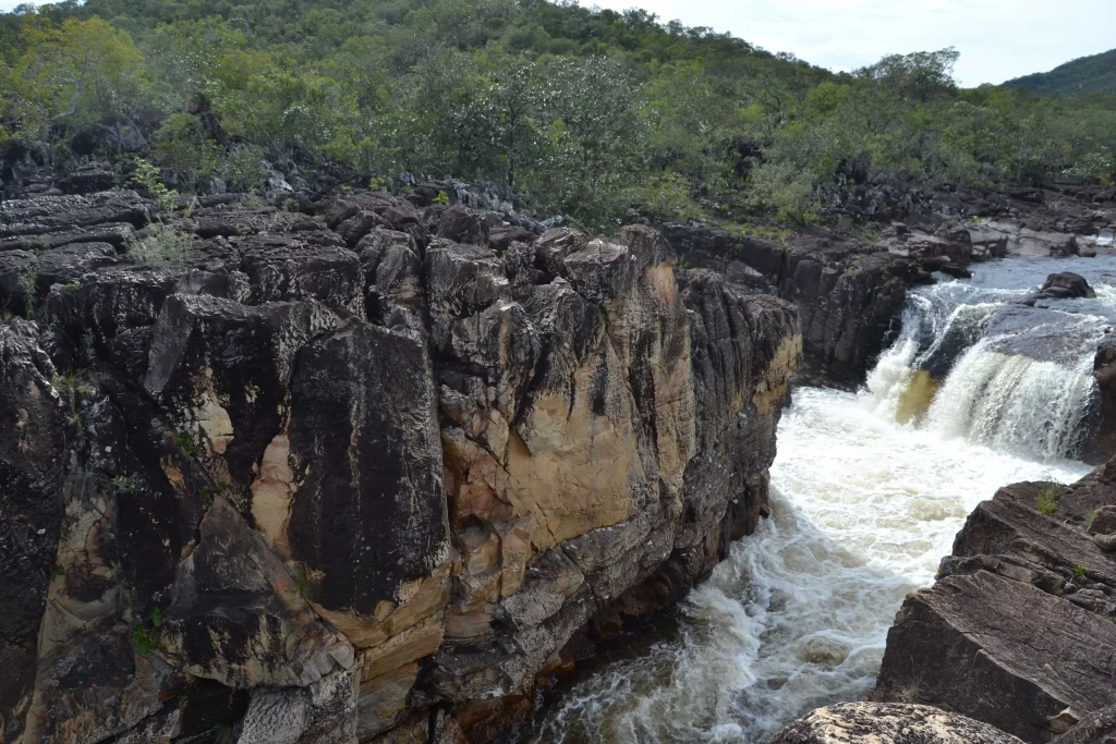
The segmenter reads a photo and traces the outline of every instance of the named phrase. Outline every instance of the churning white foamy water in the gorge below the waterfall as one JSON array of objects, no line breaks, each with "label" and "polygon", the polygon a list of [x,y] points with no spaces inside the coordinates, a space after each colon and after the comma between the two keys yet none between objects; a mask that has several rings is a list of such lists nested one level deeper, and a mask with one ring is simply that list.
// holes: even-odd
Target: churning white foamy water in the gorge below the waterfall
[{"label": "churning white foamy water in the gorge below the waterfall", "polygon": [[679,640],[577,685],[532,741],[758,744],[860,698],[903,597],[933,581],[969,512],[1003,484],[1087,471],[896,426],[870,399],[797,392],[772,519],[691,593]]}]

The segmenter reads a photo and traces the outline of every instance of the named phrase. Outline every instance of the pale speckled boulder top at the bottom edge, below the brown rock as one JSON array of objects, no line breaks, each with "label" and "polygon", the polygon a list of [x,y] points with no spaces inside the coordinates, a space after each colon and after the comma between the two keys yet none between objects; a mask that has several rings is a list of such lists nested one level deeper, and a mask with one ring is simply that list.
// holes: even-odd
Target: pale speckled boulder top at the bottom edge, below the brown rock
[{"label": "pale speckled boulder top at the bottom edge, below the brown rock", "polygon": [[1021,744],[988,724],[926,705],[843,703],[818,708],[769,744]]}]

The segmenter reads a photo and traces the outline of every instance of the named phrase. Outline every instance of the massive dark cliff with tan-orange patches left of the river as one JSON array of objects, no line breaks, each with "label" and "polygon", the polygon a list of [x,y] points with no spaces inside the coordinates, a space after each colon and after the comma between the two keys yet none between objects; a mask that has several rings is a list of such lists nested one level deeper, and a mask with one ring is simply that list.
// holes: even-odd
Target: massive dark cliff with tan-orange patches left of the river
[{"label": "massive dark cliff with tan-orange patches left of the river", "polygon": [[767,513],[801,335],[747,277],[372,193],[154,269],[152,209],[3,206],[0,741],[489,741]]}]

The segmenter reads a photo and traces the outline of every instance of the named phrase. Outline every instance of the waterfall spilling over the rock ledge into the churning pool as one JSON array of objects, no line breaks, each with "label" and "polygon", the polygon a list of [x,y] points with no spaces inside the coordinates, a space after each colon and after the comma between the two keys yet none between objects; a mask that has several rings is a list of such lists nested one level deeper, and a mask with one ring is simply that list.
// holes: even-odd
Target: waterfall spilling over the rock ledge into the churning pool
[{"label": "waterfall spilling over the rock ledge into the churning pool", "polygon": [[[1052,269],[1051,269],[1052,270]],[[910,296],[868,377],[868,405],[901,425],[1049,462],[1077,455],[1096,405],[1093,357],[1116,287],[1020,308],[1027,289],[945,282]]]}]

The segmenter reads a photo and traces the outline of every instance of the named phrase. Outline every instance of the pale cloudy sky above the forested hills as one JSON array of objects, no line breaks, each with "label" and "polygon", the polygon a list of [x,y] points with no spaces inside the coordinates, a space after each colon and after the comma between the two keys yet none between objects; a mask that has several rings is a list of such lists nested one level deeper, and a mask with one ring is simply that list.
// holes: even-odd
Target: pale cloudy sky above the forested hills
[{"label": "pale cloudy sky above the forested hills", "polygon": [[[1003,83],[1116,48],[1116,0],[581,0],[645,8],[770,51],[849,70],[884,55],[956,47],[964,86]],[[10,10],[19,0],[0,0]]]}]

